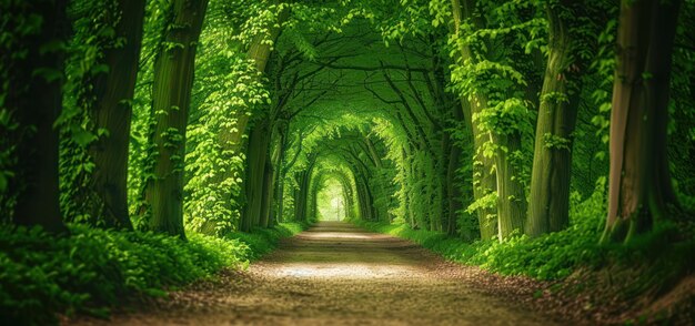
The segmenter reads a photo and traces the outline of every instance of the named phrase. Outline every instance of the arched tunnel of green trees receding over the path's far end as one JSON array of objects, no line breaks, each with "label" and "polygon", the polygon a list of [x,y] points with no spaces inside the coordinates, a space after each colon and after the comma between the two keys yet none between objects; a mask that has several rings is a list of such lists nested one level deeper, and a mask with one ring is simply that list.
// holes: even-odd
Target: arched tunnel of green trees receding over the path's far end
[{"label": "arched tunnel of green trees receding over the path's far end", "polygon": [[240,228],[315,218],[334,179],[346,216],[475,237],[461,169],[472,149],[445,58],[426,39],[386,47],[365,21],[343,28],[306,35],[308,49],[278,38],[270,108],[249,120]]}]

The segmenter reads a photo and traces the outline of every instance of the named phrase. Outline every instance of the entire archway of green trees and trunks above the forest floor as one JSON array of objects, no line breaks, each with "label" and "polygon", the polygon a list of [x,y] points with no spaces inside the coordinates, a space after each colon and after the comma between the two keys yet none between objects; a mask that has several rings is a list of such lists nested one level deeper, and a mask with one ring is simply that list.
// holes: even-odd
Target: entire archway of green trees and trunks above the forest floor
[{"label": "entire archway of green trees and trunks above the forest floor", "polygon": [[693,224],[691,0],[26,2],[0,7],[7,225]]}]

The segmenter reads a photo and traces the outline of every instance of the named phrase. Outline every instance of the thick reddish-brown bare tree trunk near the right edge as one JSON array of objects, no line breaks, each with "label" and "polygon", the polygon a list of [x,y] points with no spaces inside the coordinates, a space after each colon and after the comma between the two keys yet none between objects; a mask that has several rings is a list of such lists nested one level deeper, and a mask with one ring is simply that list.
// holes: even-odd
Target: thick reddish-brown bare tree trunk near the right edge
[{"label": "thick reddish-brown bare tree trunk near the right edge", "polygon": [[677,204],[666,156],[681,1],[623,1],[611,111],[608,216],[602,241],[629,242]]}]

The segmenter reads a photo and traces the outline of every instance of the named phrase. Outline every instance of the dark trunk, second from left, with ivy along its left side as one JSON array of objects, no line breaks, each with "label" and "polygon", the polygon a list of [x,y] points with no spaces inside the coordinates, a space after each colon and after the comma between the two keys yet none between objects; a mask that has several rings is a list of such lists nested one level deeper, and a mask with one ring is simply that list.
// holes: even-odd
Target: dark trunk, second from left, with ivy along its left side
[{"label": "dark trunk, second from left, with ivy along its left side", "polygon": [[128,145],[130,143],[131,102],[138,77],[142,43],[144,0],[119,0],[120,21],[117,38],[123,47],[109,49],[105,63],[109,73],[94,82],[97,104],[90,112],[94,128],[109,133],[90,147],[94,162],[94,192],[102,207],[95,212],[107,227],[132,230],[128,216]]}]

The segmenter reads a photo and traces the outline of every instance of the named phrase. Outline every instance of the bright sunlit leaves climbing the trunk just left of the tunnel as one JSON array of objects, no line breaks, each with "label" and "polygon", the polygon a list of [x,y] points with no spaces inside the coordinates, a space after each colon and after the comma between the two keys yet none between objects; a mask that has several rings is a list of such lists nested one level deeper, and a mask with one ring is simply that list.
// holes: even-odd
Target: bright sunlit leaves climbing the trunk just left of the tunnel
[{"label": "bright sunlit leaves climbing the trunk just left of the tunnel", "polygon": [[184,207],[187,227],[223,235],[239,223],[235,201],[245,159],[230,135],[243,132],[236,124],[240,114],[251,115],[270,99],[253,62],[214,43],[214,31],[203,34],[211,43],[202,51],[209,60],[199,68],[195,84],[202,101],[197,101],[195,120],[187,131]]}]

